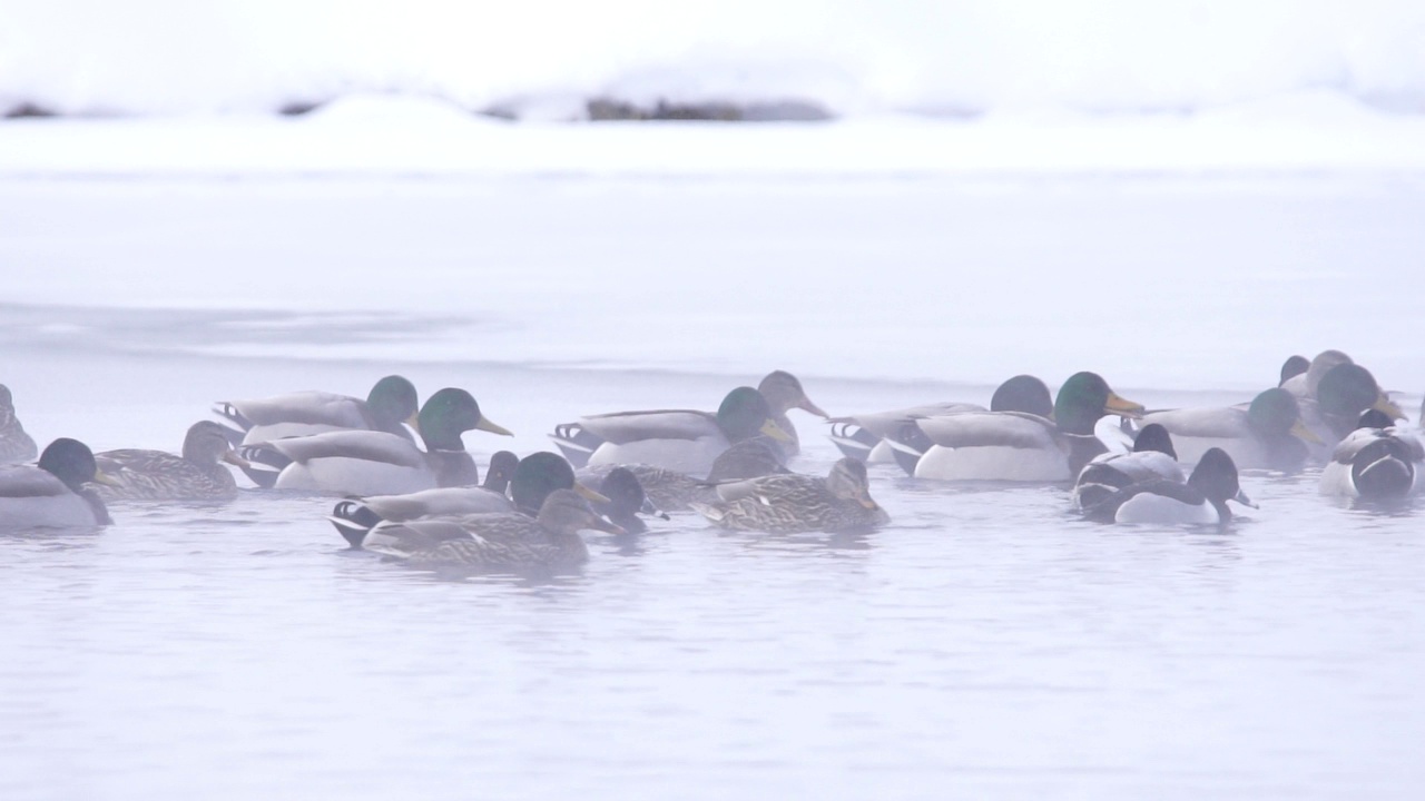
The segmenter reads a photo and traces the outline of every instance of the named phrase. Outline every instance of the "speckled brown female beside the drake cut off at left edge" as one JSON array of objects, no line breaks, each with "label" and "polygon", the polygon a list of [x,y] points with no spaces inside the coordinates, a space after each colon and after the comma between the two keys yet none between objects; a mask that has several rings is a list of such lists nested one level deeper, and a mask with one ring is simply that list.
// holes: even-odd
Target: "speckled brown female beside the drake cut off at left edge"
[{"label": "speckled brown female beside the drake cut off at left edge", "polygon": [[113,483],[95,490],[105,500],[232,500],[238,482],[219,462],[252,465],[238,456],[224,426],[200,420],[188,426],[182,456],[162,450],[104,450],[94,455]]}]

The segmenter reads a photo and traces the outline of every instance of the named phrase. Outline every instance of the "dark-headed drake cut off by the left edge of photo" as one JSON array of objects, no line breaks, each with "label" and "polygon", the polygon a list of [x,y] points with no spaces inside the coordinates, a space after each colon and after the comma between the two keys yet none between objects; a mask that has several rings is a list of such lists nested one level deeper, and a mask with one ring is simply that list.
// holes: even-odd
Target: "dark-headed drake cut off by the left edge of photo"
[{"label": "dark-headed drake cut off by the left edge of photo", "polygon": [[107,526],[114,520],[88,486],[113,479],[100,472],[94,452],[61,438],[40,455],[40,465],[0,466],[0,529]]}]

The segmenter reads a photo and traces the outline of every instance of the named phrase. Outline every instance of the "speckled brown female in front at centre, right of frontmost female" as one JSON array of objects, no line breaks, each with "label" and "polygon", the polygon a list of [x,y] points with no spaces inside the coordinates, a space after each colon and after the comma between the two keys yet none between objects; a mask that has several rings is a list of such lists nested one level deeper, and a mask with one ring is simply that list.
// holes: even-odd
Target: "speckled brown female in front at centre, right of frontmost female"
[{"label": "speckled brown female in front at centre, right of frontmost female", "polygon": [[846,532],[891,520],[871,499],[866,466],[841,459],[826,477],[787,473],[721,485],[717,503],[693,503],[724,529],[742,532]]}]

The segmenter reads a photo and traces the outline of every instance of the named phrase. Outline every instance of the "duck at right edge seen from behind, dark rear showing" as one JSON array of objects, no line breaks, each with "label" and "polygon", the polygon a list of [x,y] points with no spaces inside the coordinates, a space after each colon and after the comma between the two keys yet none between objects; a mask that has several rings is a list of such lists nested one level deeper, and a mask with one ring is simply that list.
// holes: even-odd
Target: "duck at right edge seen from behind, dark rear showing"
[{"label": "duck at right edge seen from behind, dark rear showing", "polygon": [[1337,443],[1321,469],[1321,495],[1391,500],[1419,492],[1425,448],[1412,430],[1395,428],[1387,413],[1369,409]]}]

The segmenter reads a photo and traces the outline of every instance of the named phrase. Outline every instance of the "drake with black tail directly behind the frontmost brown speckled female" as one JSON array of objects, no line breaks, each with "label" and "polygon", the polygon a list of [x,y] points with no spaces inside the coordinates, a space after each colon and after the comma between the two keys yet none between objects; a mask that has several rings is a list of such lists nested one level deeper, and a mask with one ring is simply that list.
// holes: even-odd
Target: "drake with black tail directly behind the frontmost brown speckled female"
[{"label": "drake with black tail directly behind the frontmost brown speckled female", "polygon": [[[506,485],[514,500],[504,495]],[[406,495],[348,499],[336,505],[328,520],[352,547],[363,547],[369,544],[372,529],[382,522],[402,523],[418,517],[507,512],[533,517],[544,505],[544,499],[559,489],[573,489],[596,502],[607,500],[577,483],[573,467],[556,453],[540,452],[517,459],[509,450],[502,450],[490,459],[483,487],[437,487]]]}]

